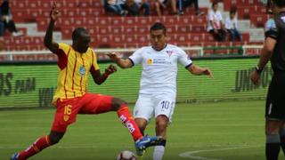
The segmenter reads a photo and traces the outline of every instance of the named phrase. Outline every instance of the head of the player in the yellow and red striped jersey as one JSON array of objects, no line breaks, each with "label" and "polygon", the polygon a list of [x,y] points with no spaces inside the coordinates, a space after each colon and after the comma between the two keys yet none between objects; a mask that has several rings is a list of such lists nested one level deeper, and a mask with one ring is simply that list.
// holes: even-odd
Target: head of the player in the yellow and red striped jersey
[{"label": "head of the player in the yellow and red striped jersey", "polygon": [[90,44],[90,35],[85,28],[75,28],[72,33],[72,47],[80,53],[87,51]]}]

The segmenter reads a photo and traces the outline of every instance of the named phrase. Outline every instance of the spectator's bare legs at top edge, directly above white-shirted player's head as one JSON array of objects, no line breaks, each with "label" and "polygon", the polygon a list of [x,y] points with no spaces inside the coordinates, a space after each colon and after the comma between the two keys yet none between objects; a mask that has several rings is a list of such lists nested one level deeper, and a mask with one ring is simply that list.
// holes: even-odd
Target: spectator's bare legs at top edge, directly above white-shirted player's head
[{"label": "spectator's bare legs at top edge, directly above white-shirted player's head", "polygon": [[176,0],[154,0],[155,11],[161,16],[161,8],[166,9],[168,6],[171,7],[173,14],[178,14],[176,8]]}]

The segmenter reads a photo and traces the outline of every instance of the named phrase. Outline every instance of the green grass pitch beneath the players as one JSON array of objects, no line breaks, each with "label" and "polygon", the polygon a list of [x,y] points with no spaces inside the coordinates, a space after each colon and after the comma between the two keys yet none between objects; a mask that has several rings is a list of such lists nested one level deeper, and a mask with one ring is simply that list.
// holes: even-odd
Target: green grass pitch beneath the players
[{"label": "green grass pitch beneath the players", "polygon": [[[177,104],[165,159],[265,159],[264,111],[263,100]],[[54,109],[1,110],[0,159],[9,159],[48,133],[53,113]],[[146,132],[154,135],[153,120]],[[134,142],[116,113],[110,112],[77,116],[60,143],[30,159],[114,160],[122,150],[134,151]],[[151,159],[152,150],[144,159]]]}]

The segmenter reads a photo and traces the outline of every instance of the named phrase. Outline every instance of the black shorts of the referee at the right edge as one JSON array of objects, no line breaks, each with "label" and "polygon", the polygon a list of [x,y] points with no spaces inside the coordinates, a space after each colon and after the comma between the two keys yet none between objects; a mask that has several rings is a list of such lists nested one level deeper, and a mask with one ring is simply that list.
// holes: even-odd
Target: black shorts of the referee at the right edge
[{"label": "black shorts of the referee at the right edge", "polygon": [[285,120],[285,74],[274,74],[269,86],[265,117],[271,120]]}]

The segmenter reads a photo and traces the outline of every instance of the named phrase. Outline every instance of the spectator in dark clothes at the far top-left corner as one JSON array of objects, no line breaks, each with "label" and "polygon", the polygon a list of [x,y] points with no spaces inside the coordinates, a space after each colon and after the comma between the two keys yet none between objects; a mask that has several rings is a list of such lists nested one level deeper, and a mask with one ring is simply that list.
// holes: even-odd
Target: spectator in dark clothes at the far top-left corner
[{"label": "spectator in dark clothes at the far top-left corner", "polygon": [[3,0],[1,6],[1,20],[4,23],[4,29],[8,29],[12,36],[22,36],[23,33],[18,31],[15,22],[12,20],[11,8],[9,5],[9,0]]}]

